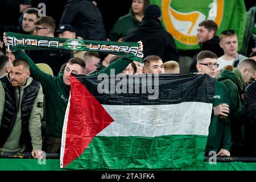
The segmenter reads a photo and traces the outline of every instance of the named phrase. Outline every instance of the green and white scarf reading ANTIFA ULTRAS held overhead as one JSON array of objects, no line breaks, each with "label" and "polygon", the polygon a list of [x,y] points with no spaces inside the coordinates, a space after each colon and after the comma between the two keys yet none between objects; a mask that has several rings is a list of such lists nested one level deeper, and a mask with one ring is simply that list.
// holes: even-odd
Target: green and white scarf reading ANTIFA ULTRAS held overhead
[{"label": "green and white scarf reading ANTIFA ULTRAS held overhead", "polygon": [[9,47],[12,51],[23,49],[71,49],[72,51],[94,51],[110,53],[126,57],[142,63],[143,53],[139,52],[138,43],[109,42],[83,39],[63,39],[45,36],[6,33]]}]

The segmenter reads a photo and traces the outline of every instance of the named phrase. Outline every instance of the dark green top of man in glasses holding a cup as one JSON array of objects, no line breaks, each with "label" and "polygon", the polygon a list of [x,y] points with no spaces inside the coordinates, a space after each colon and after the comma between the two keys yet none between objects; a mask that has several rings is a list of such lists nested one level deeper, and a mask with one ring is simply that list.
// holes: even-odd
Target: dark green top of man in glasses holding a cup
[{"label": "dark green top of man in glasses holding a cup", "polygon": [[[218,106],[220,103],[229,104],[228,89],[222,82],[215,81],[213,107]],[[230,116],[226,119],[221,119],[218,115],[213,115],[210,120],[206,151],[215,151],[217,153],[222,148],[230,151],[231,144]]]}]

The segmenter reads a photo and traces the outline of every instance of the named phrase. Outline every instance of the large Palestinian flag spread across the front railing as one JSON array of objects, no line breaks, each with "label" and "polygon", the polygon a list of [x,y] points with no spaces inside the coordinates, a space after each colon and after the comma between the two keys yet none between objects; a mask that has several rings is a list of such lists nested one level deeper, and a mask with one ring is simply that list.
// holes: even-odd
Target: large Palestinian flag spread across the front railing
[{"label": "large Palestinian flag spread across the front railing", "polygon": [[208,75],[72,75],[60,167],[204,166],[214,80]]}]

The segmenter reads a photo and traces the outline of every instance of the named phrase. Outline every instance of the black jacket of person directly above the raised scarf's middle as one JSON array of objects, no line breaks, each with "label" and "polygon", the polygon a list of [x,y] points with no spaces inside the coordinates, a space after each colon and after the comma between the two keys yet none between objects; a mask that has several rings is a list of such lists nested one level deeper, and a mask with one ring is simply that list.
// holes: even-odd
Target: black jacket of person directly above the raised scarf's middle
[{"label": "black jacket of person directly above the raised scarf's middle", "polygon": [[98,7],[91,0],[69,0],[60,24],[71,24],[76,35],[86,40],[106,40],[106,30]]}]

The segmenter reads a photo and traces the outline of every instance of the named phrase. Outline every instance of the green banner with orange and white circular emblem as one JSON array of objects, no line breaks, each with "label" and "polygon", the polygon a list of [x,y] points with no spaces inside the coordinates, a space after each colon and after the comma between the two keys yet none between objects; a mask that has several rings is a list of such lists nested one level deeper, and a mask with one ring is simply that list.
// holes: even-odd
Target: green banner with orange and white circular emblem
[{"label": "green banner with orange and white circular emblem", "polygon": [[200,22],[212,19],[221,31],[233,29],[238,36],[238,51],[241,50],[246,24],[246,9],[243,0],[151,0],[162,10],[162,24],[172,36],[178,49],[198,49],[196,40]]}]

